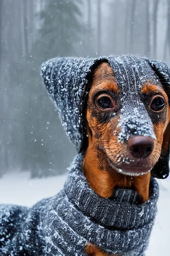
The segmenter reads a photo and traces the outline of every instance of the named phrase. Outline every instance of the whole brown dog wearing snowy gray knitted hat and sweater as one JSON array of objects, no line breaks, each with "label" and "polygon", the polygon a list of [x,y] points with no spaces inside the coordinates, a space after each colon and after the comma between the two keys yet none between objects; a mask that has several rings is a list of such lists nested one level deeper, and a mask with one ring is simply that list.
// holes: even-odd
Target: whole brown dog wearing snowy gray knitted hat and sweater
[{"label": "whole brown dog wearing snowy gray knitted hat and sweater", "polygon": [[0,205],[0,254],[143,256],[153,177],[169,175],[169,67],[131,55],[59,57],[41,75],[78,154],[58,194],[30,208]]}]

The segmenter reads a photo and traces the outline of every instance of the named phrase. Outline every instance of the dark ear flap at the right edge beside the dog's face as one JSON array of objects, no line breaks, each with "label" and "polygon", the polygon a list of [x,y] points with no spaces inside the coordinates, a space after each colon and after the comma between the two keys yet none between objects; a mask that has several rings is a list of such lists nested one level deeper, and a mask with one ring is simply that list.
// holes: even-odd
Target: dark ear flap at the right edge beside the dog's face
[{"label": "dark ear flap at the right edge beside the dog's face", "polygon": [[[170,68],[164,62],[150,61],[150,64],[158,76],[164,90],[166,91],[169,99],[170,106]],[[169,108],[170,111],[170,108]],[[170,113],[169,117],[170,120]],[[169,175],[169,155],[170,155],[170,123],[167,125],[163,136],[161,155],[152,169],[151,173],[153,177],[158,179],[166,179]]]}]

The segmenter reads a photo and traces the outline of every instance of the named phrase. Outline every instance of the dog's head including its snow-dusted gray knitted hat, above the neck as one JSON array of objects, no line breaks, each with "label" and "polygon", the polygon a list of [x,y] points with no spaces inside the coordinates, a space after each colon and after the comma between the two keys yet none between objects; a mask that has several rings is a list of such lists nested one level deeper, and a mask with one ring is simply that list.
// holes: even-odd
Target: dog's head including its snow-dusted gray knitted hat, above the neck
[{"label": "dog's head including its snow-dusted gray knitted hat, above the neck", "polygon": [[104,152],[118,172],[151,170],[157,178],[169,174],[169,76],[165,63],[133,56],[56,58],[42,66],[48,93],[78,151],[87,140],[85,110],[88,142],[98,145],[99,157]]}]

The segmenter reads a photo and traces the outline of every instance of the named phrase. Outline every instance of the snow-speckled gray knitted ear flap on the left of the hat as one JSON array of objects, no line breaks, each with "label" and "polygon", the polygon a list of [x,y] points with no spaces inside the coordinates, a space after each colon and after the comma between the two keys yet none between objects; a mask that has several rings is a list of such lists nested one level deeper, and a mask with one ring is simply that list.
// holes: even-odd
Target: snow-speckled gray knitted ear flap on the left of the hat
[{"label": "snow-speckled gray knitted ear flap on the left of the hat", "polygon": [[84,137],[83,106],[92,67],[104,58],[54,58],[42,64],[42,78],[78,152]]}]

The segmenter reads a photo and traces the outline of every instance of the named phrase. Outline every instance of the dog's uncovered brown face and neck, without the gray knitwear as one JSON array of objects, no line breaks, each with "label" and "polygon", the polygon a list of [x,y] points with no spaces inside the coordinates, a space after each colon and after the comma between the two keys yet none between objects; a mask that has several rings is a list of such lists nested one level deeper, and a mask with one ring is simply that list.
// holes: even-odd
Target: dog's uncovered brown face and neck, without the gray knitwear
[{"label": "dog's uncovered brown face and neck, without the gray knitwear", "polygon": [[[121,128],[120,115],[113,114],[120,109],[122,88],[118,87],[109,63],[103,62],[93,71],[85,107],[88,146],[83,172],[90,186],[101,197],[111,197],[114,188],[120,187],[136,190],[140,203],[148,200],[150,170],[158,162],[161,151],[167,152],[169,145],[170,109],[164,86],[161,80],[157,83],[150,78],[136,91],[137,97],[144,102],[145,111],[149,113],[156,138],[130,136],[128,141],[121,143],[117,140]],[[126,104],[125,108],[128,108]],[[159,120],[155,120],[155,116],[159,116]],[[86,246],[86,253],[93,256],[109,255],[92,243]]]}]

